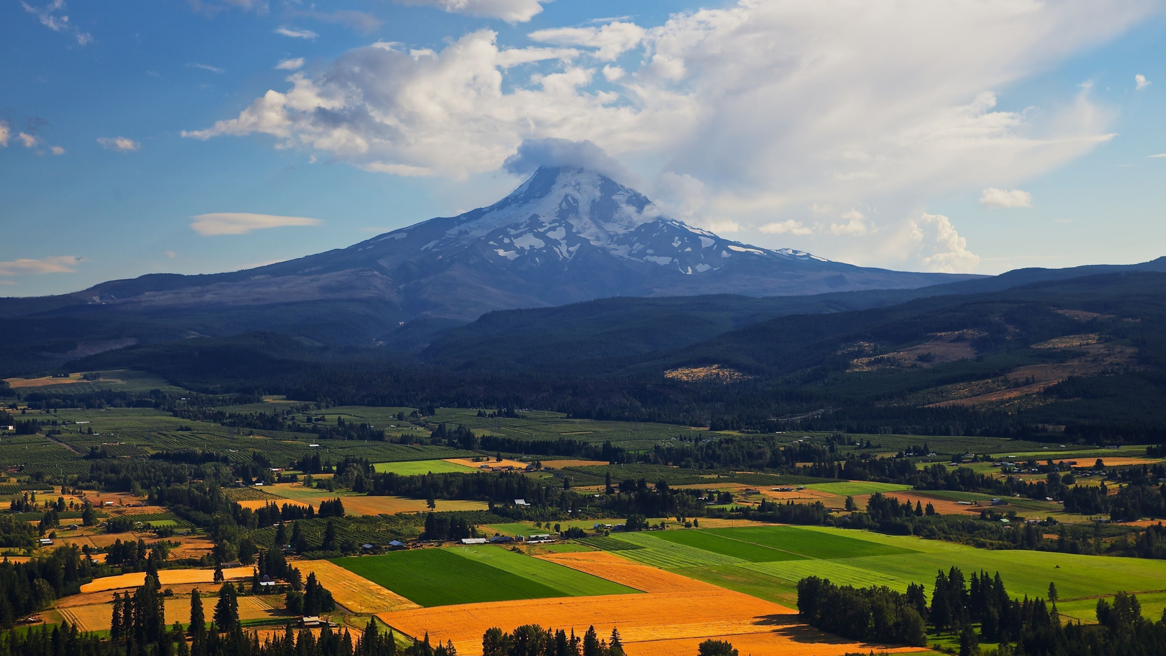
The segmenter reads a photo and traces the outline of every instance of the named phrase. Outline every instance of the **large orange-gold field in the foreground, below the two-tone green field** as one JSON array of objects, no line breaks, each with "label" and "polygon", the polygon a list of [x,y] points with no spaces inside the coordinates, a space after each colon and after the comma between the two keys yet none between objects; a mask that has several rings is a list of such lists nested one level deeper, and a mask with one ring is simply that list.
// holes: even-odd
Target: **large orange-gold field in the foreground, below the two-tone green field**
[{"label": "large orange-gold field in the foreground, below the two-tone green field", "polygon": [[[482,634],[491,627],[513,630],[538,623],[583,634],[595,626],[599,635],[619,628],[628,654],[691,656],[696,644],[721,636],[733,644],[749,642],[754,656],[840,656],[881,650],[877,645],[831,641],[798,623],[798,614],[768,601],[728,589],[602,596],[568,596],[438,606],[378,615],[406,635],[429,631],[433,641],[451,640],[463,656],[482,654]],[[739,647],[738,647],[739,649]]]}]

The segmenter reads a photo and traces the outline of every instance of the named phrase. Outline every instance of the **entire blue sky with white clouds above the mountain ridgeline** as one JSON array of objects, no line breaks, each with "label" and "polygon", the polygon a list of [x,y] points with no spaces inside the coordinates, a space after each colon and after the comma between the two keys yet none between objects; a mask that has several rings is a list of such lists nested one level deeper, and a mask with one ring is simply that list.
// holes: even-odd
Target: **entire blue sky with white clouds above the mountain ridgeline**
[{"label": "entire blue sky with white clouds above the mountain ridgeline", "polygon": [[0,294],[347,246],[498,200],[541,137],[763,246],[1143,261],[1166,254],[1161,8],[5,2]]}]

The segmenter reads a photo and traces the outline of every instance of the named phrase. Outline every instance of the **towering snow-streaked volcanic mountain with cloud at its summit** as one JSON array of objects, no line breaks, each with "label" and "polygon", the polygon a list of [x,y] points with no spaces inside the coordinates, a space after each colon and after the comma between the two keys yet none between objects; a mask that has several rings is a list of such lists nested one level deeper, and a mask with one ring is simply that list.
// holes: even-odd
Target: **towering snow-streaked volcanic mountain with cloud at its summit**
[{"label": "towering snow-streaked volcanic mountain with cloud at its summit", "polygon": [[540,168],[490,207],[347,249],[233,273],[143,275],[71,296],[146,310],[361,301],[378,308],[370,317],[396,328],[417,317],[469,321],[494,309],[616,295],[793,295],[960,278],[864,268],[724,239],[669,218],[599,173]]}]

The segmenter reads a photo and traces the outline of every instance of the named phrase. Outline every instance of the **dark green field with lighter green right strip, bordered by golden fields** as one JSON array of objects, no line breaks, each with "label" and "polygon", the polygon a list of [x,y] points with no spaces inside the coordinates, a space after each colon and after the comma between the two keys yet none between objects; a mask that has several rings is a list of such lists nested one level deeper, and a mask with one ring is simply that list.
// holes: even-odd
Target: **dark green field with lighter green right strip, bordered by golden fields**
[{"label": "dark green field with lighter green right strip, bordered by golden fields", "polygon": [[493,545],[396,551],[332,563],[427,607],[637,592]]}]

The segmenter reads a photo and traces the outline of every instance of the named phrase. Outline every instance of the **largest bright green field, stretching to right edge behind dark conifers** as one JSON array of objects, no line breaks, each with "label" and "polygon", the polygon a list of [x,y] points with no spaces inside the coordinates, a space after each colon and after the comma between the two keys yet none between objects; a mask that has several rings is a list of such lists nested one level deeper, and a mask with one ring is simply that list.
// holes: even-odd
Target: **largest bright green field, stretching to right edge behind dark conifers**
[{"label": "largest bright green field, stretching to right edge behind dark conifers", "polygon": [[[673,535],[668,535],[673,533]],[[690,538],[689,533],[709,537]],[[680,537],[684,536],[684,537]],[[733,551],[709,542],[711,537],[780,549],[798,558],[757,560],[756,550]],[[695,579],[785,605],[796,601],[798,581],[805,577],[829,578],[841,585],[886,585],[905,591],[923,584],[928,593],[939,570],[953,565],[965,574],[999,572],[1012,596],[1045,596],[1055,582],[1068,605],[1067,616],[1093,621],[1091,608],[1100,594],[1166,589],[1166,561],[1107,556],[1079,556],[1041,551],[989,551],[967,545],[886,536],[821,526],[747,526],[711,530],[620,533],[623,543],[644,549],[619,554],[649,565],[675,570]],[[681,544],[681,542],[687,544]],[[588,539],[586,544],[603,549]],[[703,544],[705,547],[694,546]],[[736,553],[736,556],[730,556]],[[1139,595],[1140,599],[1142,595]],[[1073,601],[1076,600],[1076,601]],[[1166,607],[1166,594],[1146,595],[1144,613],[1157,619]]]}]

